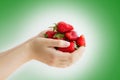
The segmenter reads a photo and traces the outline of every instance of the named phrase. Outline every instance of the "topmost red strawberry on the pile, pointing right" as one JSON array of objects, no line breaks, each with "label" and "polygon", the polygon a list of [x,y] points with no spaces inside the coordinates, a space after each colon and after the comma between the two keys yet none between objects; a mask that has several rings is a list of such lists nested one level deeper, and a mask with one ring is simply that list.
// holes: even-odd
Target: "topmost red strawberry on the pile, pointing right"
[{"label": "topmost red strawberry on the pile, pointing right", "polygon": [[70,24],[67,24],[65,22],[59,22],[57,24],[57,31],[60,33],[65,33],[71,30],[73,30],[73,27]]}]

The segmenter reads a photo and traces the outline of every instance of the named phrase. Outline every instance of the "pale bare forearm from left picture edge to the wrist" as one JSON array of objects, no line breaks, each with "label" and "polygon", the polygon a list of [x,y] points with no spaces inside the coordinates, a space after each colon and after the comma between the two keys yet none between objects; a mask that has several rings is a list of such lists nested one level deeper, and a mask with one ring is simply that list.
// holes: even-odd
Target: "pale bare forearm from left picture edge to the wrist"
[{"label": "pale bare forearm from left picture edge to the wrist", "polygon": [[31,59],[28,51],[26,42],[0,54],[0,80],[5,80],[13,71]]}]

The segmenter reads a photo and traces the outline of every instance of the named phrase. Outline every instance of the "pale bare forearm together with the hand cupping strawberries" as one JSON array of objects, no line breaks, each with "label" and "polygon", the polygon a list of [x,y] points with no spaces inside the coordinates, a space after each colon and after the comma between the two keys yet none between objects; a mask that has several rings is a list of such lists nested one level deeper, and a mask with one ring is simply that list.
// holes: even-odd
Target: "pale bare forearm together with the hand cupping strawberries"
[{"label": "pale bare forearm together with the hand cupping strawberries", "polygon": [[49,66],[65,68],[78,61],[82,56],[84,47],[80,47],[73,53],[58,51],[54,47],[68,47],[70,43],[44,38],[44,33],[45,31],[13,49],[1,52],[0,80],[7,79],[17,68],[32,59]]}]

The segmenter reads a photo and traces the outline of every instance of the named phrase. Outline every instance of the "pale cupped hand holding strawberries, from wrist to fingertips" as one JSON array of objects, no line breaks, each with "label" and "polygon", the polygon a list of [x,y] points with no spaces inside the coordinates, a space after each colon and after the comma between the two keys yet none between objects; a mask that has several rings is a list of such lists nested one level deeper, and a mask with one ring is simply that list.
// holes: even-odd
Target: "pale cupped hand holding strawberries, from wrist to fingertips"
[{"label": "pale cupped hand holding strawberries, from wrist to fingertips", "polygon": [[45,31],[30,40],[29,50],[33,59],[54,67],[67,67],[76,62],[84,51],[80,47],[73,53],[61,52],[54,47],[68,47],[69,42],[44,38]]}]

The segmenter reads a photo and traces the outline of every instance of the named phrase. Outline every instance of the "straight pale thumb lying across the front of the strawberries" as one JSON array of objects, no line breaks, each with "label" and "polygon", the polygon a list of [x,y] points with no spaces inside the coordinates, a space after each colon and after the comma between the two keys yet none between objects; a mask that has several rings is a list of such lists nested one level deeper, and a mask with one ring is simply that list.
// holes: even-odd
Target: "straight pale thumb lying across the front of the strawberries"
[{"label": "straight pale thumb lying across the front of the strawberries", "polygon": [[49,47],[68,47],[70,45],[68,41],[47,39],[47,38],[39,38],[39,42],[44,46],[49,46]]}]

